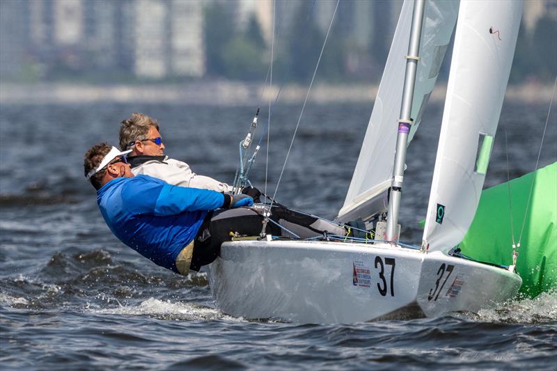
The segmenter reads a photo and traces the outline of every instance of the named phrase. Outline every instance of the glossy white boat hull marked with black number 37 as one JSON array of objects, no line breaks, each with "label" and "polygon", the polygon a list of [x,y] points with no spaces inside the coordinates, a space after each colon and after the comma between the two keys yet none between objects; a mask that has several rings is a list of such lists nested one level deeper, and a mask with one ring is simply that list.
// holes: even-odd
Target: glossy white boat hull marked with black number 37
[{"label": "glossy white boat hull marked with black number 37", "polygon": [[223,312],[301,323],[477,312],[521,285],[510,271],[441,252],[345,242],[228,242],[209,274]]}]

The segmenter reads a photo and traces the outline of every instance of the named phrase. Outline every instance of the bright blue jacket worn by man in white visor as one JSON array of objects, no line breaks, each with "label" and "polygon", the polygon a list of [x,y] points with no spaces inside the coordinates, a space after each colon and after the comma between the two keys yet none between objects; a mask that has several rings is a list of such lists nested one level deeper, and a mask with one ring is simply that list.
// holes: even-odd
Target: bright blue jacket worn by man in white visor
[{"label": "bright blue jacket worn by man in white visor", "polygon": [[119,177],[97,191],[112,233],[155,264],[178,272],[175,260],[207,215],[223,205],[217,191],[176,187],[148,175]]}]

